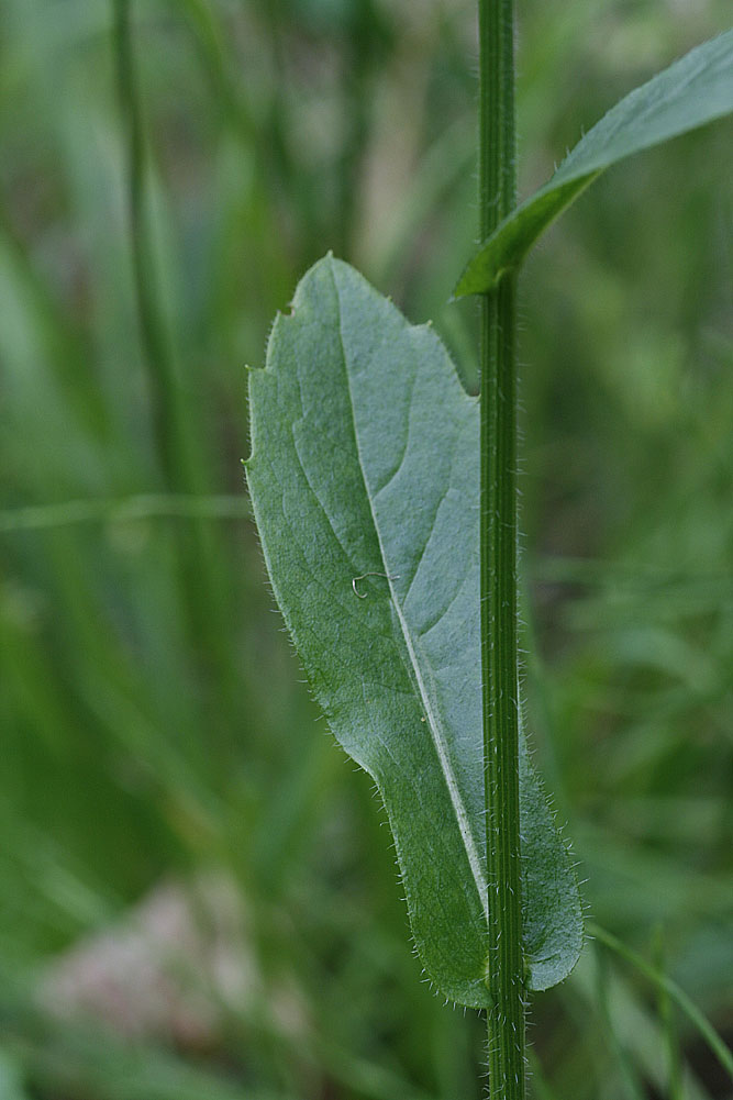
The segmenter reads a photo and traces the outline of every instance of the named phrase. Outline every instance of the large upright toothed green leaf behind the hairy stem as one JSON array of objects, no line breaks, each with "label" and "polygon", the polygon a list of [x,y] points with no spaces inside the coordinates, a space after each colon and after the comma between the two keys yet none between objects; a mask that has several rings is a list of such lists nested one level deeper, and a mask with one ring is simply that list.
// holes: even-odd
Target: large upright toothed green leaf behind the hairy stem
[{"label": "large upright toothed green leaf behind the hairy stem", "polygon": [[[375,780],[424,966],[485,1007],[479,406],[446,349],[347,264],[321,260],[250,375],[254,514],[314,694]],[[525,955],[572,968],[580,903],[523,747]]]}]

